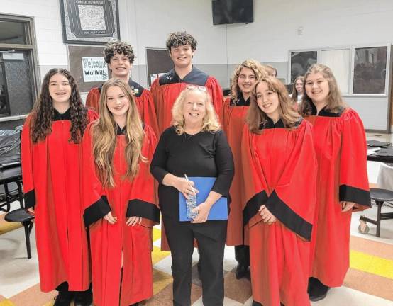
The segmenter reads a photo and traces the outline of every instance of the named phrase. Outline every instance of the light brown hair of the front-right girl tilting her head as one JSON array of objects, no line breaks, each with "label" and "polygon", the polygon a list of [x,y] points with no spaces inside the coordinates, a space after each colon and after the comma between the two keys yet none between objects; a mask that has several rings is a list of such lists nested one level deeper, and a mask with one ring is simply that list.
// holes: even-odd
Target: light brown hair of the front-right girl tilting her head
[{"label": "light brown hair of the front-right girl tilting her head", "polygon": [[260,109],[257,103],[257,87],[262,82],[267,84],[270,91],[274,91],[278,95],[278,111],[279,118],[281,118],[286,128],[294,128],[299,121],[300,115],[293,110],[292,103],[289,99],[287,88],[276,77],[267,76],[258,81],[251,93],[250,107],[246,117],[246,122],[250,127],[250,131],[255,134],[260,134],[260,124],[267,120],[267,115]]}]

